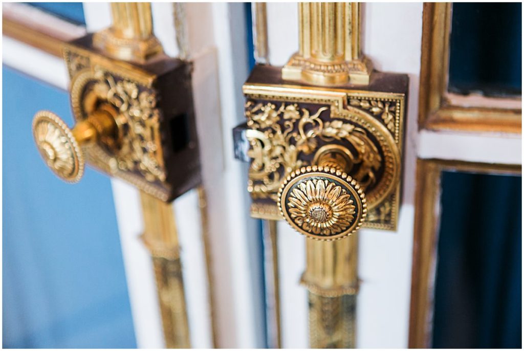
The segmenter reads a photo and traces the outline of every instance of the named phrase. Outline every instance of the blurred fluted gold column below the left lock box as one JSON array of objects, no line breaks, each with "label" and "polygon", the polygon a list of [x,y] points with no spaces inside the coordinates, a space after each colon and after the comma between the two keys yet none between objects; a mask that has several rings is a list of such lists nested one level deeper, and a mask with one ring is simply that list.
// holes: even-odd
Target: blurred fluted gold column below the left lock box
[{"label": "blurred fluted gold column below the left lock box", "polygon": [[171,204],[140,192],[142,239],[151,252],[167,348],[189,348],[189,325],[177,227]]}]

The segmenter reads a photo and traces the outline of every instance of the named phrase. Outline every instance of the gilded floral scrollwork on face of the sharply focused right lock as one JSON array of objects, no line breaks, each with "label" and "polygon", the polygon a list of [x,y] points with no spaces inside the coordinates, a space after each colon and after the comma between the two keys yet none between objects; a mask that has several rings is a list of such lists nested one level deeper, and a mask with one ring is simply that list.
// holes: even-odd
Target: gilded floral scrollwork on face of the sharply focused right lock
[{"label": "gilded floral scrollwork on face of the sharply focused right lock", "polygon": [[320,115],[329,107],[316,111],[299,108],[292,103],[246,103],[247,133],[250,143],[248,156],[253,159],[249,169],[248,190],[254,199],[270,198],[278,201],[277,190],[282,178],[292,170],[307,166],[299,157],[311,155],[321,141],[349,142],[356,155],[353,164],[359,164],[354,178],[366,187],[376,181],[375,172],[381,166],[381,156],[366,130],[342,119],[324,122]]}]

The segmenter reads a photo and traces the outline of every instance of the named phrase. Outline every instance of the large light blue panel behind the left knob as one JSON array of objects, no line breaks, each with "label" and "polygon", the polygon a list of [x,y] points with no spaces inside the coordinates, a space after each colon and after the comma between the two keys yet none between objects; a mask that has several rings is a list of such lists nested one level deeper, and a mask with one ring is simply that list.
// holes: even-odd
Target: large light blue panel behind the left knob
[{"label": "large light blue panel behind the left knob", "polygon": [[68,94],[3,71],[3,346],[136,347],[107,176],[78,184],[43,163],[32,116],[50,109],[72,125]]}]

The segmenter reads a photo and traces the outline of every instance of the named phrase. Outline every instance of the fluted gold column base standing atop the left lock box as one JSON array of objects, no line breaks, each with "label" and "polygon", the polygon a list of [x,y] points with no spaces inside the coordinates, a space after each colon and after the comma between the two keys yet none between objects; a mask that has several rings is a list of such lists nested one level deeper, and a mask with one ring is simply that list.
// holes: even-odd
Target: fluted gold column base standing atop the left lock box
[{"label": "fluted gold column base standing atop the left lock box", "polygon": [[153,35],[151,3],[111,3],[113,25],[93,35],[93,45],[120,60],[145,62],[162,53]]}]

